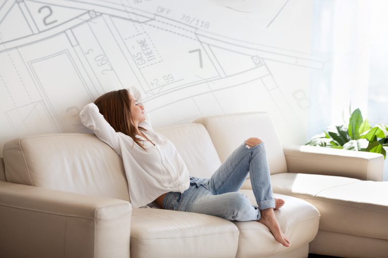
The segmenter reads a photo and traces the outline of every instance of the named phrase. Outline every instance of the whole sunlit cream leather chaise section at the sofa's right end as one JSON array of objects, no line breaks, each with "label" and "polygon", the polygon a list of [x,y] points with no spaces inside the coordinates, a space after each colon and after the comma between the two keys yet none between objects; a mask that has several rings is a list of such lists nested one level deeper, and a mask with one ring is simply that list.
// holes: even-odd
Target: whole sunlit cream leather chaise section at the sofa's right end
[{"label": "whole sunlit cream leather chaise section at the sofa's right end", "polygon": [[271,181],[274,192],[314,205],[319,229],[388,240],[388,182],[294,173],[272,175]]}]

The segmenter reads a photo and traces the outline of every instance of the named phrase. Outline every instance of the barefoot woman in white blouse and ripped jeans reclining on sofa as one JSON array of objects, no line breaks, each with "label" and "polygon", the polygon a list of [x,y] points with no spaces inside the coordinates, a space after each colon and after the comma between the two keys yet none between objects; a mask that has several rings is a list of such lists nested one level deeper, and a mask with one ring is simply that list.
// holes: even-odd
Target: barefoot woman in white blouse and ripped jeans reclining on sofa
[{"label": "barefoot woman in white blouse and ripped jeans reclining on sofa", "polygon": [[[256,220],[276,241],[290,242],[275,218],[284,201],[273,199],[264,142],[247,139],[211,178],[189,176],[175,146],[153,131],[150,117],[135,88],[111,91],[87,104],[82,123],[123,159],[129,198],[134,207],[156,203],[163,209],[196,212],[227,220]],[[250,173],[258,206],[238,192]]]}]

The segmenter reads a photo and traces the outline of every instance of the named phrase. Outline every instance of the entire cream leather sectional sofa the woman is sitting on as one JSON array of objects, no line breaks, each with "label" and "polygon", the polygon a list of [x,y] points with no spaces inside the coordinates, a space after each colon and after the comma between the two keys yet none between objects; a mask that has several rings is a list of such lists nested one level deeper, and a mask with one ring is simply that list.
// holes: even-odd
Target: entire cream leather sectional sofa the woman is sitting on
[{"label": "entire cream leather sectional sofa the woman is sitting on", "polygon": [[[344,244],[360,240],[356,242],[359,248],[373,243],[374,252],[369,254],[386,253],[388,238],[383,227],[388,204],[382,197],[360,203],[357,200],[364,202],[365,193],[352,188],[384,183],[360,180],[379,179],[381,155],[283,151],[266,113],[211,116],[194,122],[156,130],[174,143],[192,176],[210,177],[249,137],[266,142],[274,197],[285,200],[275,215],[292,242],[290,247],[277,243],[268,228],[255,221],[231,222],[204,214],[132,207],[122,161],[108,145],[94,135],[52,134],[14,139],[4,147],[0,254],[299,258],[308,256],[309,243],[310,252],[339,255],[342,250],[335,248],[341,237]],[[333,176],[336,173],[360,178]],[[243,188],[241,192],[254,204],[249,179]],[[336,195],[347,198],[340,200]],[[344,223],[342,215],[353,217]],[[380,228],[372,227],[369,218],[379,219]],[[347,245],[345,249],[349,257],[362,256],[354,255]]]}]

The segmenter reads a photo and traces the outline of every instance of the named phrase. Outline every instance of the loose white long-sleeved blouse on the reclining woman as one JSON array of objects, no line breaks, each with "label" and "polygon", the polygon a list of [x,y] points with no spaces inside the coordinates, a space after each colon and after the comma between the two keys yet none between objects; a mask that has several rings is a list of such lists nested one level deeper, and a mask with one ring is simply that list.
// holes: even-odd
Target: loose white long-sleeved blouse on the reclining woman
[{"label": "loose white long-sleeved blouse on the reclining woman", "polygon": [[[141,94],[135,87],[128,90],[138,102],[141,102]],[[146,120],[138,126],[147,129],[141,132],[155,146],[139,135],[135,137],[143,141],[143,147],[147,152],[134,143],[131,137],[115,132],[94,103],[87,104],[79,113],[82,124],[123,159],[130,202],[136,208],[152,203],[169,191],[183,193],[190,185],[186,165],[175,146],[153,130],[147,108],[141,104]]]}]

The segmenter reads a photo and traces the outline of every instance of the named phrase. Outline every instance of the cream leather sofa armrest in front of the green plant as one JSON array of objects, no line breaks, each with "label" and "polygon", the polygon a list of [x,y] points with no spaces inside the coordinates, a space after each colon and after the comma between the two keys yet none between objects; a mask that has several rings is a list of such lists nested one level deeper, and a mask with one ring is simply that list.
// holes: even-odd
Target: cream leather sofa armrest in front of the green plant
[{"label": "cream leather sofa armrest in front of the green plant", "polygon": [[283,149],[289,173],[306,173],[382,181],[384,157],[381,154],[295,146]]}]

